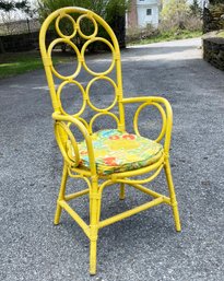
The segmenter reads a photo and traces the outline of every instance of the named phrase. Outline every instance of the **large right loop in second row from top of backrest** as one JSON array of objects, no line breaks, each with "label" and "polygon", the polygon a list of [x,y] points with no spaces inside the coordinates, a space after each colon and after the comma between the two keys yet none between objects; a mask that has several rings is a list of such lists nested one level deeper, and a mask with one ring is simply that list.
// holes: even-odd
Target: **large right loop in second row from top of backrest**
[{"label": "large right loop in second row from top of backrest", "polygon": [[[106,71],[104,71],[104,72],[95,72],[95,71],[91,70],[91,69],[87,67],[86,62],[85,62],[85,50],[86,50],[87,46],[89,46],[91,43],[94,43],[94,42],[97,42],[97,40],[105,43],[105,44],[110,48],[110,50],[111,50],[111,52],[113,52],[111,65],[110,65],[109,68],[108,68]],[[82,47],[81,56],[82,56],[82,58],[83,58],[83,67],[84,67],[84,69],[85,69],[89,73],[91,73],[92,75],[94,75],[94,77],[107,75],[109,72],[113,71],[113,69],[114,69],[114,67],[115,67],[115,49],[114,49],[113,45],[111,45],[107,39],[102,38],[102,37],[95,37],[95,38],[93,38],[93,39],[87,40],[87,42],[83,45],[83,47]]]}]

